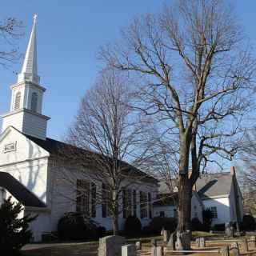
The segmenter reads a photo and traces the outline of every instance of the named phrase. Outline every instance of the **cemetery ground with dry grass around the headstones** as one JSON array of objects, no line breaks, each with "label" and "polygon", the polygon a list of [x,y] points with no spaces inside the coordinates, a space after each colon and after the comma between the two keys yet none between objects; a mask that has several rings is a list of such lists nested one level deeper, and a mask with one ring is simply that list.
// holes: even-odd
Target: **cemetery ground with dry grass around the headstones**
[{"label": "cemetery ground with dry grass around the headstones", "polygon": [[[194,256],[209,255],[216,256],[220,254],[211,253],[212,250],[220,250],[223,246],[230,246],[234,241],[238,242],[240,255],[256,255],[256,248],[249,242],[249,250],[246,252],[243,242],[245,238],[250,239],[251,235],[238,238],[226,238],[223,234],[210,234],[205,232],[193,232],[193,242],[191,244],[193,250],[209,250],[209,253],[193,253]],[[198,248],[194,242],[195,238],[206,238],[206,247]],[[148,237],[148,238],[130,238],[126,239],[126,243],[142,242],[142,250],[150,250],[150,241],[154,238],[157,240],[159,246],[162,245],[162,237]],[[175,255],[176,253],[166,253],[166,256]],[[49,244],[32,244],[25,246],[22,250],[22,256],[97,256],[98,255],[98,241],[94,242],[70,242],[70,243],[49,243]],[[143,255],[143,254],[142,254]],[[176,254],[181,255],[181,254]],[[230,253],[232,255],[232,253]]]}]

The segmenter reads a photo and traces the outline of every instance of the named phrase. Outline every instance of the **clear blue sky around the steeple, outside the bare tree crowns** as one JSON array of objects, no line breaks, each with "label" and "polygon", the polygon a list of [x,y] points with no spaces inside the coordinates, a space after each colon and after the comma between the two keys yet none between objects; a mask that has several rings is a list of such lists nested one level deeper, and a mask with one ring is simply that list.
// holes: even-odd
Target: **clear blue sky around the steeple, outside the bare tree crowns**
[{"label": "clear blue sky around the steeple, outside the bare tree crowns", "polygon": [[[43,114],[51,117],[48,137],[62,138],[74,120],[80,98],[93,85],[101,64],[99,46],[118,38],[120,29],[137,14],[156,12],[169,0],[8,0],[1,2],[0,18],[13,16],[24,22],[25,35],[18,42],[20,52],[38,14],[38,73],[47,88]],[[233,1],[238,20],[256,45],[256,2]],[[10,70],[0,67],[0,113],[10,106],[9,86],[16,82],[13,73],[21,70],[22,60]],[[1,122],[0,122],[1,124]]]}]

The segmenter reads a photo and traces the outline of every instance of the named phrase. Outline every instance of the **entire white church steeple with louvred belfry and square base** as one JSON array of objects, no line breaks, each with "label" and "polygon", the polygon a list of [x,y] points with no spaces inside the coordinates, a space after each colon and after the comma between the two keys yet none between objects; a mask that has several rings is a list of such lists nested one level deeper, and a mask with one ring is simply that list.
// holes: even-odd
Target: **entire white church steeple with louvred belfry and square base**
[{"label": "entire white church steeple with louvred belfry and square base", "polygon": [[2,115],[2,130],[14,126],[23,134],[46,139],[47,121],[50,118],[42,114],[42,98],[46,89],[39,85],[36,22],[37,15],[34,14],[22,71],[18,74],[17,83],[10,86],[10,112]]}]

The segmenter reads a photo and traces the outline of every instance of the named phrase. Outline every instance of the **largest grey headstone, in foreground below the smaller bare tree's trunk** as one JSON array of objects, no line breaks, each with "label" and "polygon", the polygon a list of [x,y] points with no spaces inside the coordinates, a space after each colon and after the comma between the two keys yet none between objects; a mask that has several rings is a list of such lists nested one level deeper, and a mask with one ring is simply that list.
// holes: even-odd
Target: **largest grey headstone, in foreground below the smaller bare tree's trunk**
[{"label": "largest grey headstone, in foreground below the smaller bare tree's trunk", "polygon": [[98,256],[121,256],[125,238],[118,235],[110,235],[99,239]]}]

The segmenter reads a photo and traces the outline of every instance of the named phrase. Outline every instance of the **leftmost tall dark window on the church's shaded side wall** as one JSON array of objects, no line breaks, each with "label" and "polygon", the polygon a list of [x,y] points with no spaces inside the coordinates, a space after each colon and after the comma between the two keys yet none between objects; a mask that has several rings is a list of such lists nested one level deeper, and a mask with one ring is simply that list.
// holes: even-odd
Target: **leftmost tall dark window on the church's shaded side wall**
[{"label": "leftmost tall dark window on the church's shaded side wall", "polygon": [[77,211],[90,214],[90,182],[77,180]]}]

